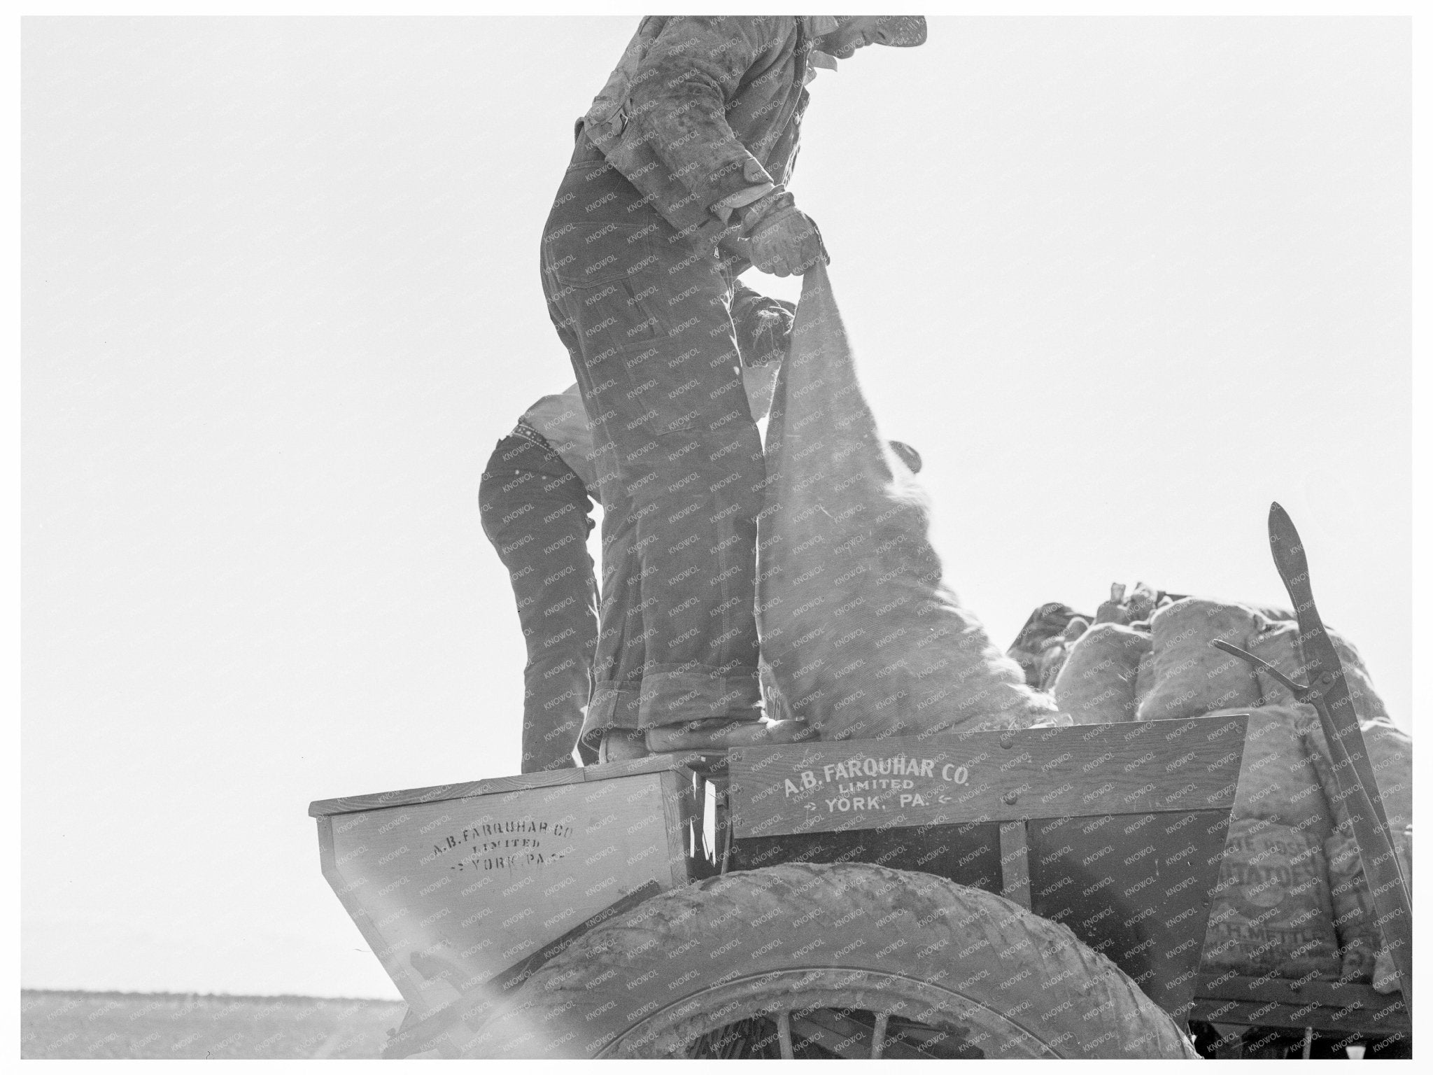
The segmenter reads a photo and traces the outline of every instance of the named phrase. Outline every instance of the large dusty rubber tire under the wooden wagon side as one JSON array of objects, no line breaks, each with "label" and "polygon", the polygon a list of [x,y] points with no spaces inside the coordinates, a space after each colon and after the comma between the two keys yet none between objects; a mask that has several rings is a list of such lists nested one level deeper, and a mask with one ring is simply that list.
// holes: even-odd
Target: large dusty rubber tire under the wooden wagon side
[{"label": "large dusty rubber tire under the wooden wagon side", "polygon": [[884,1012],[911,1033],[937,1028],[937,1055],[1198,1058],[1068,927],[943,877],[856,863],[772,866],[655,896],[540,968],[473,1051],[711,1055],[722,1028],[811,1009],[827,1025]]}]

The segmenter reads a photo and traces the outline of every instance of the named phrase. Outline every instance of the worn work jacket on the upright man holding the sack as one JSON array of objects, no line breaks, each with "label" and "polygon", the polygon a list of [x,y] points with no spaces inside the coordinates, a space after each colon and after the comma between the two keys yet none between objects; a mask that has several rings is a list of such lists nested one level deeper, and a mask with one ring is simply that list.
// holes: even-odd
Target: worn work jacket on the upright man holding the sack
[{"label": "worn work jacket on the upright man holding the sack", "polygon": [[579,129],[643,195],[636,205],[709,249],[727,206],[791,175],[811,30],[811,16],[649,14]]}]

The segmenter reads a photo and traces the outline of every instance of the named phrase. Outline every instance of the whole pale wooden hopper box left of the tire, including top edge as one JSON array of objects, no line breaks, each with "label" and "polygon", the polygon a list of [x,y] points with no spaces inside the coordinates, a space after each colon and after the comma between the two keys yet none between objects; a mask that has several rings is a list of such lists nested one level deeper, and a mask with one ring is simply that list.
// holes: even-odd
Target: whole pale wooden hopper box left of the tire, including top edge
[{"label": "whole pale wooden hopper box left of the tire, including top edge", "polygon": [[565,943],[709,873],[694,787],[656,757],[311,804],[324,877],[408,1002],[387,1055],[456,1055]]}]

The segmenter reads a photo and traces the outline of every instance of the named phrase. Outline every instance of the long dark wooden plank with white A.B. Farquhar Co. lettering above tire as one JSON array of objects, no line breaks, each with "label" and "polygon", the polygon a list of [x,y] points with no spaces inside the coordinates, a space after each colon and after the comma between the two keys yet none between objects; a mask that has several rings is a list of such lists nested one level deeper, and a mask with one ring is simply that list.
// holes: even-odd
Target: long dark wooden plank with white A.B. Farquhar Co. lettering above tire
[{"label": "long dark wooden plank with white A.B. Farquhar Co. lettering above tire", "polygon": [[1227,810],[1242,715],[742,747],[737,837]]}]

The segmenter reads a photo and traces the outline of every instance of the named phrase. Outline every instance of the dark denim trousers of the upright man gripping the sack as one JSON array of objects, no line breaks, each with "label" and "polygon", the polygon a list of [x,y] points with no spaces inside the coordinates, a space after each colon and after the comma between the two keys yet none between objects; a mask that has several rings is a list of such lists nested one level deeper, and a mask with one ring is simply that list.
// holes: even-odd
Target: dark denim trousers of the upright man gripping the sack
[{"label": "dark denim trousers of the upright man gripping the sack", "polygon": [[583,734],[757,720],[765,469],[731,278],[600,158],[569,168],[542,254],[602,486],[602,628]]}]

